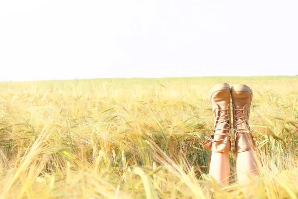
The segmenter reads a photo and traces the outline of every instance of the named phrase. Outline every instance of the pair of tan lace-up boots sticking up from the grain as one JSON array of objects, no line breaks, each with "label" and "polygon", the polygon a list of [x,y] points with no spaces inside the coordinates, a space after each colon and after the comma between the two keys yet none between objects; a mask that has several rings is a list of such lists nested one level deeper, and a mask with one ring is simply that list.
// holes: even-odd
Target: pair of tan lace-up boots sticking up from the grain
[{"label": "pair of tan lace-up boots sticking up from the grain", "polygon": [[[209,97],[212,104],[215,118],[214,131],[210,137],[206,137],[203,143],[205,149],[221,153],[231,151],[233,146],[236,152],[243,152],[256,149],[256,141],[251,134],[248,118],[252,100],[252,90],[246,85],[228,84],[215,85]],[[230,100],[233,105],[233,133],[234,145],[232,146],[230,136]]]}]

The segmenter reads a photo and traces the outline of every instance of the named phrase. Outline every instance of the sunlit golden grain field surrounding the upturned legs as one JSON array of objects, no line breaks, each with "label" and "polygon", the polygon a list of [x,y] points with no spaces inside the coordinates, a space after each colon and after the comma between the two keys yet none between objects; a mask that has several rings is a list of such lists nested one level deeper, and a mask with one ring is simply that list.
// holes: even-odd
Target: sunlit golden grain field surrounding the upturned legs
[{"label": "sunlit golden grain field surrounding the upturned legs", "polygon": [[[208,92],[253,90],[259,176],[209,175]],[[298,198],[298,76],[0,83],[0,198]],[[247,182],[249,183],[249,182]]]}]

